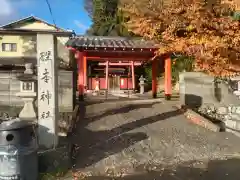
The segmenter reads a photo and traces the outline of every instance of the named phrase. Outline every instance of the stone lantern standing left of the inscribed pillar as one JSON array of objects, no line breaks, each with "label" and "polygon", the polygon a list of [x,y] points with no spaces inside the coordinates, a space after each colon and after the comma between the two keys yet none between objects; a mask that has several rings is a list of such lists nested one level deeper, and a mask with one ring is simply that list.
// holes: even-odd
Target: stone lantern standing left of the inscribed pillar
[{"label": "stone lantern standing left of the inscribed pillar", "polygon": [[19,114],[19,118],[23,120],[36,120],[36,112],[34,109],[34,100],[36,99],[36,81],[37,77],[33,74],[32,65],[25,65],[26,70],[17,78],[20,80],[20,92],[16,96],[20,97],[24,106]]}]

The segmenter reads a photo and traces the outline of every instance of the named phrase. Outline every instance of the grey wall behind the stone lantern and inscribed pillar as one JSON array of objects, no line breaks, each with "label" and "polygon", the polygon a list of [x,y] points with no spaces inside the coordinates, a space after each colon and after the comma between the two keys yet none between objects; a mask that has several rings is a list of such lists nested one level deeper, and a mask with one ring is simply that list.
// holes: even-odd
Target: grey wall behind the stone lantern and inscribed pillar
[{"label": "grey wall behind the stone lantern and inscribed pillar", "polygon": [[[0,106],[21,107],[23,102],[16,96],[20,91],[20,81],[16,78],[23,71],[0,71]],[[60,111],[73,109],[73,81],[72,71],[59,71],[58,97]]]}]

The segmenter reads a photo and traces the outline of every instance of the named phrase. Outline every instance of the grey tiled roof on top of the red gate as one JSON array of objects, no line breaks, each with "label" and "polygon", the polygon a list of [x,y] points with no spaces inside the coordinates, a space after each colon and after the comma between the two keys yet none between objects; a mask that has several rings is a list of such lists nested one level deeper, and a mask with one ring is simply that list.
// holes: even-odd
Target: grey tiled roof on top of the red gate
[{"label": "grey tiled roof on top of the red gate", "polygon": [[110,36],[75,36],[68,40],[66,46],[83,50],[155,50],[154,41],[146,41],[142,38],[125,38]]}]

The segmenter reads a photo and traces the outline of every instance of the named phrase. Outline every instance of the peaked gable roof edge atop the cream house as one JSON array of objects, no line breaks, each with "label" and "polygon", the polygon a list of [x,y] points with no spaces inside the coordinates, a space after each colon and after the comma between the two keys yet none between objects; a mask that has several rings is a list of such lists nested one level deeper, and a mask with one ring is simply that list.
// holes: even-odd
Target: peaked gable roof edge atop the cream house
[{"label": "peaked gable roof edge atop the cream house", "polygon": [[16,25],[24,24],[24,23],[26,23],[26,22],[31,22],[31,21],[39,21],[39,22],[42,22],[42,23],[44,23],[44,24],[47,24],[47,25],[49,25],[49,26],[52,26],[52,27],[56,28],[56,30],[58,30],[58,31],[68,31],[68,30],[65,30],[65,29],[63,29],[63,28],[59,28],[59,27],[55,26],[54,24],[50,24],[50,23],[48,23],[47,21],[44,21],[43,19],[40,19],[40,18],[35,17],[35,16],[28,16],[28,17],[25,17],[25,18],[22,18],[22,19],[18,19],[18,20],[16,20],[16,21],[12,21],[12,22],[10,22],[10,23],[8,23],[8,24],[5,24],[5,25],[0,26],[0,29],[1,29],[1,28],[2,28],[2,29],[12,29],[12,28],[14,28],[14,26],[16,26]]}]

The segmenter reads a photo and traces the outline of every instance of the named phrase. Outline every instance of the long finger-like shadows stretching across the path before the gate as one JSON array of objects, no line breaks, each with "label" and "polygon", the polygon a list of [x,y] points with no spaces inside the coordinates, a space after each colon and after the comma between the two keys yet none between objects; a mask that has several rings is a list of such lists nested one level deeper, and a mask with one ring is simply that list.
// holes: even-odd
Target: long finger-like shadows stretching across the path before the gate
[{"label": "long finger-like shadows stretching across the path before the gate", "polygon": [[[94,120],[99,120],[108,115],[117,113],[127,113],[134,109],[151,108],[151,104],[126,105],[118,109],[111,109]],[[86,127],[89,120],[85,118],[86,107],[84,103],[80,104],[81,120],[79,121],[75,134],[72,137],[75,144],[75,151],[73,152],[74,169],[81,169],[99,162],[100,160],[121,152],[129,146],[147,139],[147,134],[143,132],[127,133],[128,131],[140,128],[142,126],[155,123],[157,121],[166,120],[170,117],[178,116],[183,112],[180,110],[173,110],[155,116],[142,118],[133,122],[128,122],[111,130],[91,131]]]}]

